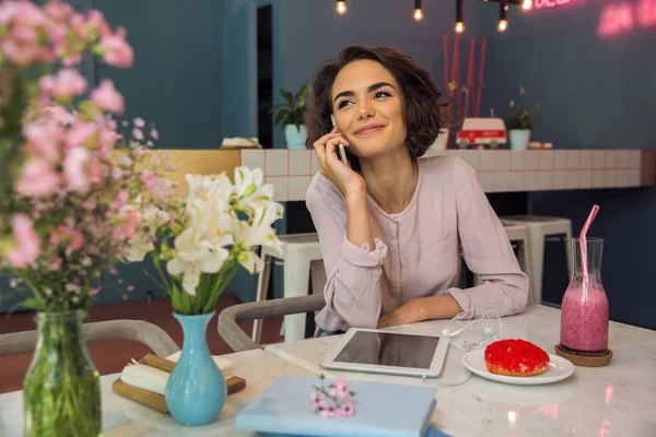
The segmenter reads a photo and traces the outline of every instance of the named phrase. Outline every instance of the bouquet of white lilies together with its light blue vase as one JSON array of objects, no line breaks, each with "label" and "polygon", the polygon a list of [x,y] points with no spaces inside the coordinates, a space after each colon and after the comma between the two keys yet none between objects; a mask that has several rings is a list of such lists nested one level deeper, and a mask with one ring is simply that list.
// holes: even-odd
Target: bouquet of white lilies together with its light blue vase
[{"label": "bouquet of white lilies together with its light blue vase", "polygon": [[185,340],[166,385],[166,405],[177,422],[200,426],[216,418],[227,397],[206,339],[216,299],[241,267],[261,270],[258,246],[282,255],[272,224],[283,208],[273,202],[273,186],[262,184],[259,168],[237,167],[234,185],[225,174],[186,175],[186,201],[142,211],[129,261],[150,255],[160,275],[154,280],[171,296]]}]

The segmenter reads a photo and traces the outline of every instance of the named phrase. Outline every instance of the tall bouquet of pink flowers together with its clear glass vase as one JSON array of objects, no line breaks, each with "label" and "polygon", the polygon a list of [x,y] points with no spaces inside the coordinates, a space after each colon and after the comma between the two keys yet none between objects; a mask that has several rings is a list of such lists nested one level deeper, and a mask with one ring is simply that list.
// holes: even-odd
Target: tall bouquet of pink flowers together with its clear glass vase
[{"label": "tall bouquet of pink flowers together with its clear glass vase", "polygon": [[109,80],[90,90],[78,69],[91,52],[130,67],[125,29],[59,1],[0,2],[0,270],[30,290],[22,306],[38,324],[24,434],[98,436],[99,375],[82,320],[102,272],[127,255],[140,209],[162,194],[144,144],[157,133],[136,119],[136,140],[122,140],[112,118],[122,96]]}]

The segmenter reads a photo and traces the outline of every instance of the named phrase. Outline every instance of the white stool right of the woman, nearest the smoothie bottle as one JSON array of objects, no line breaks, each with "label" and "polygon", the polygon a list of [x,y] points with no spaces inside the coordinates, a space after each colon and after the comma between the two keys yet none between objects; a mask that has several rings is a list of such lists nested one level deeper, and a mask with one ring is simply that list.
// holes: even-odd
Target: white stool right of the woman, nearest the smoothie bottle
[{"label": "white stool right of the woman, nearest the smoothie bottle", "polygon": [[[554,235],[564,235],[565,257],[567,270],[572,276],[572,221],[562,217],[541,215],[513,215],[501,217],[501,223],[506,225],[525,225],[528,229],[528,248],[530,263],[530,283],[532,295],[542,298],[542,270],[544,268],[544,241]],[[537,304],[540,300],[536,302]]]}]

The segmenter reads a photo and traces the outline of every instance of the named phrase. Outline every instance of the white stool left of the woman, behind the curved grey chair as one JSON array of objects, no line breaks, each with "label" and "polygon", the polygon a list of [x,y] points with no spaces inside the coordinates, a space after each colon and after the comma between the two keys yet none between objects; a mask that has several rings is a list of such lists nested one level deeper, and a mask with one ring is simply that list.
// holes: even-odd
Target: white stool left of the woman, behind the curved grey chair
[{"label": "white stool left of the woman, behind the curved grey chair", "polygon": [[[280,240],[284,244],[282,260],[284,264],[284,298],[307,296],[311,273],[313,294],[324,293],[326,284],[326,272],[324,270],[321,248],[319,247],[319,236],[317,234],[292,234],[281,235]],[[269,290],[269,277],[271,276],[272,259],[277,258],[268,248],[262,248],[261,258],[265,267],[257,281],[256,302],[267,299]],[[295,314],[284,317],[284,341],[295,342],[305,338],[305,314]],[[256,319],[253,322],[253,341],[260,343],[262,332],[262,320]],[[282,331],[282,330],[281,330]]]}]

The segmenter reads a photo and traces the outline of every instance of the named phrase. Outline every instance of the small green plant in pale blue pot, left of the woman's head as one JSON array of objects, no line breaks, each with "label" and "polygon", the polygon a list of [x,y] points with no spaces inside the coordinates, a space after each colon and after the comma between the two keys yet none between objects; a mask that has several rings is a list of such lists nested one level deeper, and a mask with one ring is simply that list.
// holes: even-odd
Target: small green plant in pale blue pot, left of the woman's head
[{"label": "small green plant in pale blue pot, left of the woman's head", "polygon": [[307,139],[307,129],[305,128],[307,106],[305,99],[309,94],[309,83],[301,86],[296,94],[280,88],[284,103],[274,105],[271,108],[271,114],[277,113],[273,119],[276,126],[282,123],[284,127],[288,149],[305,149],[305,140]]}]

